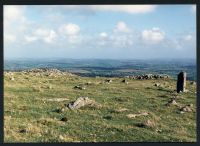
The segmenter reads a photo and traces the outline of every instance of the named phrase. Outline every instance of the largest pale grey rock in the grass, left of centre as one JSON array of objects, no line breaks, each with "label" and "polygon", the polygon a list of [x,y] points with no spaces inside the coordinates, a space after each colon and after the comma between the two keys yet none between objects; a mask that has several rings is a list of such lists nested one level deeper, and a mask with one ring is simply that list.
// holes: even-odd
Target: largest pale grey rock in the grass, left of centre
[{"label": "largest pale grey rock in the grass, left of centre", "polygon": [[79,97],[75,101],[70,102],[67,107],[69,109],[79,109],[81,107],[95,107],[99,108],[100,105],[97,104],[94,100],[89,99],[88,97]]}]

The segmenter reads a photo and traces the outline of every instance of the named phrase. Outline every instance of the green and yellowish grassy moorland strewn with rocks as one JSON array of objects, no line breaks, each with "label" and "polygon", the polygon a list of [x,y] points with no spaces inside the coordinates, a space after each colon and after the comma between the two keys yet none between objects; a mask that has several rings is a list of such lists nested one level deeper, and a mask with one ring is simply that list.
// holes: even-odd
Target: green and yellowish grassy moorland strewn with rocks
[{"label": "green and yellowish grassy moorland strewn with rocks", "polygon": [[[196,85],[176,94],[176,80],[4,73],[4,142],[195,142]],[[156,86],[155,86],[156,84]],[[84,86],[85,90],[74,89]],[[88,97],[101,106],[65,104]],[[166,104],[175,98],[177,104]],[[180,109],[190,105],[189,111]],[[131,117],[131,114],[148,113]],[[63,120],[64,118],[64,120]]]}]

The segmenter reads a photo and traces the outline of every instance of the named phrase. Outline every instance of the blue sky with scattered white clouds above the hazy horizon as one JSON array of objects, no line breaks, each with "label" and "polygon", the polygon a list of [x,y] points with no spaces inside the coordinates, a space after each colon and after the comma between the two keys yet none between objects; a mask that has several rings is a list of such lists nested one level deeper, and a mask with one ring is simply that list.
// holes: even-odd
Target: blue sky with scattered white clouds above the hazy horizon
[{"label": "blue sky with scattered white clouds above the hazy horizon", "polygon": [[195,5],[4,6],[4,58],[195,58]]}]

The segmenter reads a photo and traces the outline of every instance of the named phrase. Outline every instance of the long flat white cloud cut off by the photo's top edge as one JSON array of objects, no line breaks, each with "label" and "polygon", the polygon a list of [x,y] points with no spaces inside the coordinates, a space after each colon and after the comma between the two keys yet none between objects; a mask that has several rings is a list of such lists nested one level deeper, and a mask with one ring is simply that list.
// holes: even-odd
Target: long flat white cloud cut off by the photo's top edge
[{"label": "long flat white cloud cut off by the photo's top edge", "polygon": [[156,5],[91,5],[89,9],[94,11],[125,12],[130,14],[148,13],[155,10]]}]

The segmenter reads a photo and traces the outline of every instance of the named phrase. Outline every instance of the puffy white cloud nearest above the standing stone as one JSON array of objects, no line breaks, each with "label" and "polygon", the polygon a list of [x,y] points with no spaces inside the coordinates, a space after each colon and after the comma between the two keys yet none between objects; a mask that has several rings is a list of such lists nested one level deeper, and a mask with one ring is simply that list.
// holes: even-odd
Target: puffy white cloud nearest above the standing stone
[{"label": "puffy white cloud nearest above the standing stone", "polygon": [[142,31],[142,39],[147,43],[159,43],[165,38],[165,32],[160,28],[152,28],[150,30]]}]

